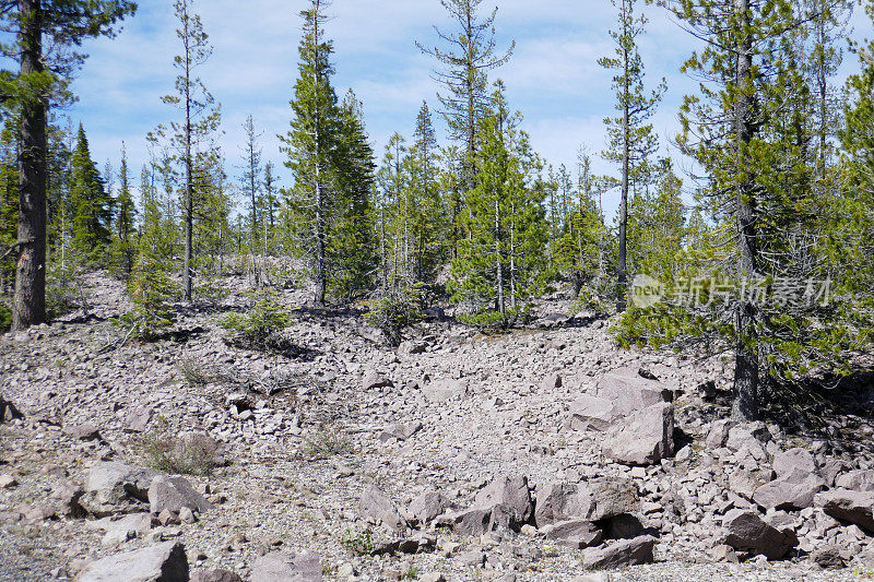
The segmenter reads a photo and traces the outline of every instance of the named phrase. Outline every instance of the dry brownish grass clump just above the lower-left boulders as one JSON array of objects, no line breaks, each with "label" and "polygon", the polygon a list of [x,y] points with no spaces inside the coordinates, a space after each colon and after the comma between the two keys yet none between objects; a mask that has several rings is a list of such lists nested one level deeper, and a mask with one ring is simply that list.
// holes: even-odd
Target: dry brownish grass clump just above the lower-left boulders
[{"label": "dry brownish grass clump just above the lower-left boulders", "polygon": [[172,435],[158,429],[143,439],[142,455],[153,468],[180,475],[212,475],[218,462],[218,446],[206,435]]}]

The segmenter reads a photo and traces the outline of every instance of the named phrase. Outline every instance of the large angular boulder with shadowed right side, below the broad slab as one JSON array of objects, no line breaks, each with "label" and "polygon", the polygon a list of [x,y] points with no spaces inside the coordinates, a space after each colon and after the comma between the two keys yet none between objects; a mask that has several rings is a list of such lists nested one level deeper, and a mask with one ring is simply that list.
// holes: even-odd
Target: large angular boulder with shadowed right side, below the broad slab
[{"label": "large angular boulder with shadowed right side, below the broad slab", "polygon": [[639,411],[612,427],[604,455],[626,465],[652,465],[674,453],[674,406],[666,402]]}]

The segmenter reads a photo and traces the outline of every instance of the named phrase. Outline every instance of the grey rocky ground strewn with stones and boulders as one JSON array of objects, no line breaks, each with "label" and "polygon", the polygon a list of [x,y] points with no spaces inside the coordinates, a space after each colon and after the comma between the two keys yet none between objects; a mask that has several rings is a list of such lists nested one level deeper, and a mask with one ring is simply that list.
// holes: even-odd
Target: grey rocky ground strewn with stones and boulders
[{"label": "grey rocky ground strewn with stones and boulders", "polygon": [[286,357],[197,307],[122,342],[122,286],[86,289],[0,337],[0,580],[874,575],[870,379],[735,425],[728,358],[619,349],[558,300],[398,349],[302,307]]}]

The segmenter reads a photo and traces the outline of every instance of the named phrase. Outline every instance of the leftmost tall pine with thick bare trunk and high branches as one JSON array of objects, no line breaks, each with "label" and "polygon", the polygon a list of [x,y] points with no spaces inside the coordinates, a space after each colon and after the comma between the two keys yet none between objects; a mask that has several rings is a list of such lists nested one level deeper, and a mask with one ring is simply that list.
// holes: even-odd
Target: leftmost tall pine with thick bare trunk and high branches
[{"label": "leftmost tall pine with thick bare trunk and high branches", "polygon": [[[46,320],[46,178],[48,106],[66,95],[67,82],[85,56],[75,49],[85,38],[114,36],[115,25],[132,14],[127,0],[3,1],[0,19],[15,36],[0,45],[20,63],[2,75],[0,93],[20,107],[19,234],[13,330]],[[47,63],[48,67],[47,67]],[[69,95],[69,94],[67,94]]]}]

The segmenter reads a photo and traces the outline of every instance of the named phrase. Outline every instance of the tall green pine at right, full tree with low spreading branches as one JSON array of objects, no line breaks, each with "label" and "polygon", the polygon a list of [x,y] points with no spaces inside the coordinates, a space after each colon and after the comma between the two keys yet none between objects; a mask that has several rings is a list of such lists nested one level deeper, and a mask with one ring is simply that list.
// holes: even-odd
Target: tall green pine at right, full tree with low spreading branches
[{"label": "tall green pine at right, full tree with low spreading branches", "polygon": [[793,59],[812,14],[788,0],[664,3],[707,40],[684,67],[710,83],[686,97],[678,143],[706,170],[704,205],[714,235],[724,236],[708,268],[720,282],[699,289],[711,300],[675,312],[678,328],[654,333],[733,347],[732,416],[748,420],[759,414],[764,379],[773,385],[812,370],[847,371],[870,344],[867,324],[848,318],[851,300],[827,293],[834,263],[810,251],[827,248],[835,231],[816,212],[811,92]]}]

